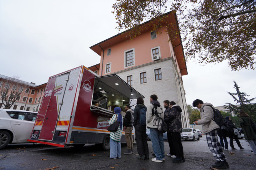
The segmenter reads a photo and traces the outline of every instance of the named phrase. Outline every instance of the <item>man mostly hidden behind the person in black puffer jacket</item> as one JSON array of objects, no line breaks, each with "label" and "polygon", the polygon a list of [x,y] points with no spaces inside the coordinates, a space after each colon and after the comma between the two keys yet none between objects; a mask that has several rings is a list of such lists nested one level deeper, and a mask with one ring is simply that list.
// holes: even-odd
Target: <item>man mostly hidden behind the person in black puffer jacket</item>
[{"label": "man mostly hidden behind the person in black puffer jacket", "polygon": [[168,129],[167,129],[167,139],[168,139],[168,144],[169,144],[169,148],[170,148],[169,153],[166,156],[176,158],[175,149],[174,149],[173,144],[172,144],[172,133],[169,132],[170,119],[167,116],[169,111],[170,111],[169,103],[170,103],[169,100],[164,101],[164,107],[165,107],[164,121],[165,121],[165,123],[167,124],[167,127],[168,127]]}]

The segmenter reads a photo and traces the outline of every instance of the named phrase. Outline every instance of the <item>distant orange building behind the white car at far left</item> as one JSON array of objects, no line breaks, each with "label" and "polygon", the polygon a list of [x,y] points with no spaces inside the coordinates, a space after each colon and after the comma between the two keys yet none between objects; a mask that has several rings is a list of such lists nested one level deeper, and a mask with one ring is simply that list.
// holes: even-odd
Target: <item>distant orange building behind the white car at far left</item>
[{"label": "distant orange building behind the white car at far left", "polygon": [[[35,83],[28,83],[16,78],[0,75],[0,91],[3,92],[5,88],[9,88],[7,98],[10,98],[10,90],[17,90],[20,96],[13,103],[9,109],[38,111],[43,100],[47,83],[36,85]],[[0,96],[0,108],[4,108],[3,94]]]}]

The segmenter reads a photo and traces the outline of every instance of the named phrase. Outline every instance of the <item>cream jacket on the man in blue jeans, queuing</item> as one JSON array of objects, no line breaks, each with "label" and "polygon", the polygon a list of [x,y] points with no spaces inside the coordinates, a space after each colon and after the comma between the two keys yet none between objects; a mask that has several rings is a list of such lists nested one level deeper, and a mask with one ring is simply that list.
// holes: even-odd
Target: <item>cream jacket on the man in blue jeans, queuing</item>
[{"label": "cream jacket on the man in blue jeans, queuing", "polygon": [[157,112],[159,117],[164,119],[164,110],[162,106],[160,106],[159,101],[153,100],[150,102],[150,104],[147,106],[147,113],[146,113],[146,126],[148,128],[157,128],[158,126],[158,117],[157,115],[152,115],[152,109],[154,108],[153,103],[157,106]]}]

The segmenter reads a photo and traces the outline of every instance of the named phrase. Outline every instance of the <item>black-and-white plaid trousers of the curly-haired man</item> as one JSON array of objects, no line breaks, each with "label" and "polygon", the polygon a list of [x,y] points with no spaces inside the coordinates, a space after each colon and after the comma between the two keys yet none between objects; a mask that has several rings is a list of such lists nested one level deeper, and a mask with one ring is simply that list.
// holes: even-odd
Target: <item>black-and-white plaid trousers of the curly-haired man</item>
[{"label": "black-and-white plaid trousers of the curly-haired man", "polygon": [[218,141],[217,130],[206,133],[206,140],[216,161],[226,161],[226,157],[223,154],[220,142]]}]

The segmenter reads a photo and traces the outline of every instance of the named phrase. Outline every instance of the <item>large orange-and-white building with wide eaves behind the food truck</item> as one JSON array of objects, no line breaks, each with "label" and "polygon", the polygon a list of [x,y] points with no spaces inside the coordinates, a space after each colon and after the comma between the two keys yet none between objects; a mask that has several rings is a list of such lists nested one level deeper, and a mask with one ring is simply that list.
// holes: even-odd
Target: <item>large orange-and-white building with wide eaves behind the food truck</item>
[{"label": "large orange-and-white building with wide eaves behind the food truck", "polygon": [[[177,24],[176,14],[166,13],[168,22]],[[150,26],[148,21],[142,26]],[[183,127],[190,127],[182,76],[187,75],[180,35],[168,41],[166,26],[156,31],[145,30],[132,41],[127,31],[91,46],[101,56],[101,63],[89,67],[99,75],[117,74],[145,96],[145,105],[150,95],[155,94],[163,105],[164,100],[175,101],[182,108]]]}]

